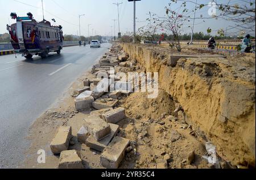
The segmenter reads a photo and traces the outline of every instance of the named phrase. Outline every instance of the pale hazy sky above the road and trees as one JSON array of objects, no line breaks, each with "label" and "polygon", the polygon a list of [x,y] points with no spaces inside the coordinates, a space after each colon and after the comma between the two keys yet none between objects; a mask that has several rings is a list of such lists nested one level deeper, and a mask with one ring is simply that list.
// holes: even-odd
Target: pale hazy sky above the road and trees
[{"label": "pale hazy sky above the road and trees", "polygon": [[[192,0],[194,1],[194,0]],[[239,0],[231,0],[234,3],[240,3]],[[119,22],[120,31],[122,34],[133,32],[133,2],[127,0],[43,0],[44,4],[44,19],[51,21],[56,20],[55,25],[63,26],[64,34],[79,35],[79,14],[81,16],[81,35],[114,35],[114,20],[118,19],[117,6],[113,3],[122,3],[119,5]],[[164,15],[166,13],[164,7],[168,6],[170,0],[142,0],[136,3],[137,30],[144,26],[149,17],[149,12]],[[209,3],[210,0],[197,0],[199,3]],[[221,2],[228,2],[222,0]],[[172,9],[177,9],[179,5],[172,5]],[[195,4],[187,3],[188,9],[194,9]],[[210,7],[196,11],[196,17],[203,15],[210,17],[208,10]],[[43,19],[42,2],[41,0],[0,0],[0,34],[6,32],[6,24],[15,23],[15,20],[10,18],[10,13],[16,12],[18,16],[27,16],[27,12],[31,12],[34,18],[38,21]],[[219,12],[217,11],[217,14]],[[193,13],[191,13],[193,16]],[[52,21],[51,21],[52,22]],[[53,22],[52,22],[53,23]],[[192,23],[192,22],[191,22]],[[195,20],[194,32],[204,32],[207,34],[207,28],[212,28],[213,35],[216,35],[218,29],[224,30],[232,25],[232,22],[227,22],[221,19],[207,19],[203,22],[200,19]],[[113,27],[111,27],[113,26]],[[96,31],[96,32],[95,32]],[[118,32],[118,20],[115,21],[115,35]],[[184,27],[184,33],[191,33],[191,28]]]}]

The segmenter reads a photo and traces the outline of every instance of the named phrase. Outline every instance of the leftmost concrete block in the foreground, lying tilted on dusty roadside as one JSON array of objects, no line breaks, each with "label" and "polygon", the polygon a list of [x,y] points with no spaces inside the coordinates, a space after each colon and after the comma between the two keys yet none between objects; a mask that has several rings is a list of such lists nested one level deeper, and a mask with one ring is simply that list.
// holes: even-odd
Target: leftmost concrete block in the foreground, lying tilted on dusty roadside
[{"label": "leftmost concrete block in the foreground, lying tilted on dusty roadside", "polygon": [[67,150],[69,146],[69,141],[72,137],[71,126],[64,127],[61,126],[57,130],[56,135],[53,137],[50,144],[50,148],[53,154],[60,154],[63,150]]}]

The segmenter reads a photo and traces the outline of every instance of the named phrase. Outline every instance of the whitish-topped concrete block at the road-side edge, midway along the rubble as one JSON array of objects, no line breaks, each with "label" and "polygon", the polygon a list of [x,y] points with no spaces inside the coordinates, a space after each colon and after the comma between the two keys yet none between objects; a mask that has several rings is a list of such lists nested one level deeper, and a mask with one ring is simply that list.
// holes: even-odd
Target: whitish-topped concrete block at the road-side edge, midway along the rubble
[{"label": "whitish-topped concrete block at the road-side edge, midway along the rubble", "polygon": [[84,110],[92,107],[92,102],[94,98],[92,97],[92,91],[84,91],[75,99],[76,110]]}]

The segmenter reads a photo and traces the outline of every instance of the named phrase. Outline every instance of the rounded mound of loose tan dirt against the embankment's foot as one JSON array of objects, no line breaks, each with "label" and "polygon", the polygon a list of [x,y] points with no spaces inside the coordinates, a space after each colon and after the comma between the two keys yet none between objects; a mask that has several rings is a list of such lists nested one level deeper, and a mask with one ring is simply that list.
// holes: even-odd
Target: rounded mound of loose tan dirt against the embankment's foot
[{"label": "rounded mound of loose tan dirt against the embankment's foot", "polygon": [[148,99],[147,93],[133,93],[126,99],[125,109],[134,119],[159,119],[164,114],[174,115],[175,103],[163,90],[155,99]]}]

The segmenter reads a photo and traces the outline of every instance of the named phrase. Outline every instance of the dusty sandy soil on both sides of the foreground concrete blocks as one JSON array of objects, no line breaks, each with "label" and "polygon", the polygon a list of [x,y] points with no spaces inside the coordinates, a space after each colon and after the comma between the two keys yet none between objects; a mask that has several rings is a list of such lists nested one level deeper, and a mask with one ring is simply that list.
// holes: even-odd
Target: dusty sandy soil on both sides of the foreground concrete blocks
[{"label": "dusty sandy soil on both sides of the foreground concrete blocks", "polygon": [[[161,48],[163,50],[163,48]],[[163,50],[165,51],[165,50]],[[168,51],[167,51],[168,52]],[[195,50],[186,50],[184,54],[198,53]],[[158,55],[156,55],[158,56]],[[239,57],[238,60],[246,61]],[[246,61],[245,66],[250,64],[251,58]],[[247,63],[248,62],[248,63]],[[136,68],[117,68],[117,71],[131,72],[144,71],[139,65]],[[103,168],[100,164],[100,152],[89,149],[85,144],[76,140],[76,133],[82,126],[83,119],[90,114],[88,111],[75,111],[73,91],[82,87],[82,79],[94,78],[90,72],[82,77],[69,88],[63,100],[57,103],[55,108],[48,110],[40,116],[30,128],[31,146],[26,154],[26,161],[22,162],[20,168],[57,168],[59,156],[51,153],[49,144],[60,125],[71,125],[75,145],[69,149],[80,152],[85,168]],[[160,85],[161,87],[161,85]],[[159,91],[158,98],[148,100],[147,93],[132,93],[123,95],[117,106],[124,107],[126,119],[119,122],[120,131],[118,136],[126,137],[134,142],[136,153],[132,150],[126,154],[119,168],[156,168],[158,162],[167,160],[168,168],[213,168],[207,161],[203,160],[206,152],[205,138],[203,133],[195,131],[191,125],[185,122],[183,112],[174,113],[179,103],[164,90]],[[38,150],[46,150],[46,164],[38,164]],[[195,153],[192,163],[187,160]],[[228,162],[221,161],[221,168],[232,168]]]}]

